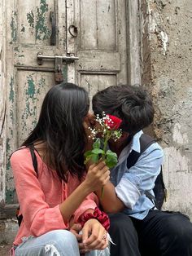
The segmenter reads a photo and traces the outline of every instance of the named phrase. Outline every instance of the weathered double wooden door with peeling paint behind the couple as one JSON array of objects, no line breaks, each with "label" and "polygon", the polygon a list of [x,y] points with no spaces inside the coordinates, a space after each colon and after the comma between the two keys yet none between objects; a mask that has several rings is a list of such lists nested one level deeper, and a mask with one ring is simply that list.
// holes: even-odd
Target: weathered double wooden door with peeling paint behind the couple
[{"label": "weathered double wooden door with peeling paint behind the couple", "polygon": [[63,78],[84,86],[91,98],[104,87],[127,82],[126,15],[125,0],[9,0],[6,5],[6,201],[15,204],[8,158],[33,130],[42,99],[55,84],[55,62],[39,65],[37,53],[78,56],[63,64]]}]

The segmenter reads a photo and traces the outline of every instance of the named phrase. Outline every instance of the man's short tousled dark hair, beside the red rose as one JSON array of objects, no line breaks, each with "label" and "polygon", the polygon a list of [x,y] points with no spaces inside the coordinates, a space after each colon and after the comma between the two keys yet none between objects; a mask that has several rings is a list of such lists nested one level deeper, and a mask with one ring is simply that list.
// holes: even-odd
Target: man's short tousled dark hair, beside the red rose
[{"label": "man's short tousled dark hair, beside the red rose", "polygon": [[150,95],[141,86],[110,86],[98,91],[93,100],[94,114],[120,117],[120,128],[135,135],[153,121],[154,108]]}]

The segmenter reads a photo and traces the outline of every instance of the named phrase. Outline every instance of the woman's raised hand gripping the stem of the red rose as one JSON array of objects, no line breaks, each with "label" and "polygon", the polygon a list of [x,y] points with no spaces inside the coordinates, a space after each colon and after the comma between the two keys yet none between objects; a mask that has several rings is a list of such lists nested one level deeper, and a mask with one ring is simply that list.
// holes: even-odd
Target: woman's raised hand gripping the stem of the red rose
[{"label": "woman's raised hand gripping the stem of the red rose", "polygon": [[84,182],[94,192],[103,188],[109,179],[110,170],[104,161],[100,161],[97,164],[89,166]]}]

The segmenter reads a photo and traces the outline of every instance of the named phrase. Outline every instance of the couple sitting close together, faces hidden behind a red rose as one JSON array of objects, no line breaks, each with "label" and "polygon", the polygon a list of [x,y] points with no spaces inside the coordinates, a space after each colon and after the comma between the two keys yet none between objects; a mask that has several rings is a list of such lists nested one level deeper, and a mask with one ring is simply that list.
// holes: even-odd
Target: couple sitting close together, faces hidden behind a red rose
[{"label": "couple sitting close together, faces hidden behind a red rose", "polygon": [[95,119],[87,92],[72,83],[48,91],[37,126],[12,154],[23,216],[12,253],[192,256],[187,216],[157,210],[146,196],[154,195],[162,165],[159,144],[146,148],[133,166],[127,162],[131,152],[140,152],[142,129],[153,121],[149,95],[141,87],[110,86],[94,95],[93,110],[122,120],[122,136],[108,143],[118,156],[111,170],[104,161],[84,164]]}]

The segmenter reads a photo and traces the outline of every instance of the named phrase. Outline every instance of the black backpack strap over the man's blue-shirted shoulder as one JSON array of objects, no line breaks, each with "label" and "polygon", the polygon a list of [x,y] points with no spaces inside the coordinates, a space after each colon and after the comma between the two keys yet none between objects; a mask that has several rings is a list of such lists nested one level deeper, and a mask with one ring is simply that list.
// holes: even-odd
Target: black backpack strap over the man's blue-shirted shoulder
[{"label": "black backpack strap over the man's blue-shirted shoulder", "polygon": [[127,158],[127,167],[128,169],[135,165],[138,158],[142,155],[142,153],[149,148],[152,143],[155,143],[155,139],[153,139],[150,135],[142,134],[140,139],[140,152],[136,152],[132,150],[130,152],[129,157]]}]

